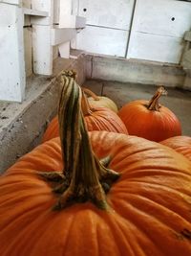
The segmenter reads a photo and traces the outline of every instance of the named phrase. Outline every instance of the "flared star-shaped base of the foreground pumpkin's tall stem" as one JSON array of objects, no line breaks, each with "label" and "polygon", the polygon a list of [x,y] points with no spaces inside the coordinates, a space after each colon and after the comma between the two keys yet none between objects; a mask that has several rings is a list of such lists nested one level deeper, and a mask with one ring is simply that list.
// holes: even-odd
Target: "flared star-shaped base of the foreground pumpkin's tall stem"
[{"label": "flared star-shaped base of the foreground pumpkin's tall stem", "polygon": [[95,186],[87,186],[83,182],[76,184],[73,177],[70,180],[70,177],[63,175],[63,172],[38,173],[47,182],[52,183],[53,193],[59,195],[56,205],[53,206],[53,210],[61,210],[74,203],[85,201],[92,201],[99,209],[109,209],[105,195],[110,191],[112,184],[117,181],[119,174],[105,167],[109,164],[109,157],[103,158],[100,161],[95,157],[95,160],[96,173],[99,179],[99,183]]}]

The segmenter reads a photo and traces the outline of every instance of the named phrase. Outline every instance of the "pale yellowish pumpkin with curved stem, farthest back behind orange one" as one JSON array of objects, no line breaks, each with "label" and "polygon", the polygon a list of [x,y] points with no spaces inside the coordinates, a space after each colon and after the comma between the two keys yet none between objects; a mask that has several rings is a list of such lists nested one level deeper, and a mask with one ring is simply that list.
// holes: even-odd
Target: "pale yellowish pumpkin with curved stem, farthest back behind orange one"
[{"label": "pale yellowish pumpkin with curved stem, farthest back behind orange one", "polygon": [[117,105],[110,98],[105,96],[97,96],[96,93],[84,87],[82,89],[88,96],[90,96],[88,97],[88,102],[92,107],[107,107],[117,113]]}]

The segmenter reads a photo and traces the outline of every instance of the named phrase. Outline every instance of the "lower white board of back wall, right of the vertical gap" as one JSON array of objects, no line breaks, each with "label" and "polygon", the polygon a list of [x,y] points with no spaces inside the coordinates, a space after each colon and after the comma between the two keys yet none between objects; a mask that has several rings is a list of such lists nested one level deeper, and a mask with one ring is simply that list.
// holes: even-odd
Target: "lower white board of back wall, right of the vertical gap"
[{"label": "lower white board of back wall, right of the vertical gap", "polygon": [[129,58],[179,63],[182,50],[180,37],[134,33]]}]

